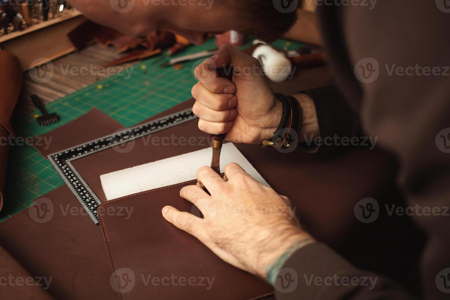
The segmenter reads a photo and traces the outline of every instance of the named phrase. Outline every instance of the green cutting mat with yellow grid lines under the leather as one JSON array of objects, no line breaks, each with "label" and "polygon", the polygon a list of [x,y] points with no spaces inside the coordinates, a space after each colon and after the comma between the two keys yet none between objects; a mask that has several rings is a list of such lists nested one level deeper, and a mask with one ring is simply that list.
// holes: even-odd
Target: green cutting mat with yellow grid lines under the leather
[{"label": "green cutting mat with yellow grid lines under the leather", "polygon": [[[243,48],[251,45],[247,43]],[[301,44],[279,40],[277,48],[298,49]],[[216,48],[214,40],[201,46],[192,46],[183,54]],[[175,56],[176,57],[176,56]],[[49,112],[56,112],[61,121],[42,127],[36,121],[37,110],[16,120],[14,128],[20,137],[45,134],[90,111],[92,107],[103,111],[130,127],[159,112],[191,98],[191,88],[197,82],[192,70],[204,58],[184,63],[175,70],[160,68],[160,57],[139,61],[128,78],[126,72],[110,76],[67,95],[47,105]],[[5,185],[5,201],[0,212],[0,222],[34,204],[33,200],[63,185],[63,179],[54,167],[37,150],[29,145],[12,146],[9,153]]]}]

